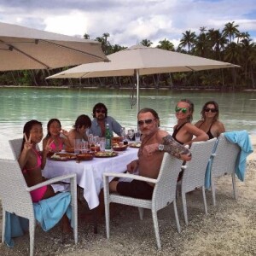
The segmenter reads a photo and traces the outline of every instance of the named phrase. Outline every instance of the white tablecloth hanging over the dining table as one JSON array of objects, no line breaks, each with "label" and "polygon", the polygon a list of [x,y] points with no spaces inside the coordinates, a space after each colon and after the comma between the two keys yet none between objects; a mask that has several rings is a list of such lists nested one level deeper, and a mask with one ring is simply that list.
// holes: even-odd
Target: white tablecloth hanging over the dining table
[{"label": "white tablecloth hanging over the dining table", "polygon": [[95,157],[93,160],[80,161],[80,163],[75,160],[47,160],[43,175],[44,177],[56,177],[77,173],[77,183],[84,189],[84,198],[90,209],[93,209],[99,205],[98,195],[103,188],[102,173],[125,172],[127,164],[137,159],[137,151],[137,148],[127,148],[115,157]]}]

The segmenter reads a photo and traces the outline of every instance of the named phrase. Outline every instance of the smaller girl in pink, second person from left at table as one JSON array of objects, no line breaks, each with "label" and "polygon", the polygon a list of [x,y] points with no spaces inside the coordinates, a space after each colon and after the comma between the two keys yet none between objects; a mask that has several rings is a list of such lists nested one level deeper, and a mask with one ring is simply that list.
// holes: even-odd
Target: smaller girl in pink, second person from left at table
[{"label": "smaller girl in pink, second person from left at table", "polygon": [[[65,134],[67,134],[65,132]],[[50,119],[47,124],[47,135],[43,140],[43,148],[49,144],[51,152],[59,152],[64,146],[70,148],[71,145],[67,138],[60,137],[61,135],[61,122],[59,119]]]}]

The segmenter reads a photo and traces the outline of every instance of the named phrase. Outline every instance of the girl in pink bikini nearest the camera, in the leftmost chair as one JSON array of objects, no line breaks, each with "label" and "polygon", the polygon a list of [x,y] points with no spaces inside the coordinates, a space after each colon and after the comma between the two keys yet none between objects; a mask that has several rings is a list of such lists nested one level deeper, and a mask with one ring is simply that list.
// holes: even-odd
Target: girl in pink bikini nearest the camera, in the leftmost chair
[{"label": "girl in pink bikini nearest the camera, in the leftmost chair", "polygon": [[[27,186],[31,187],[45,180],[42,176],[42,169],[44,169],[46,156],[50,150],[50,142],[45,145],[43,154],[41,155],[36,145],[40,143],[43,138],[43,127],[42,123],[38,122],[38,120],[27,122],[24,125],[23,134],[24,138],[21,146],[19,164],[26,179]],[[38,202],[55,195],[54,189],[50,185],[35,189],[30,193],[33,202]],[[61,223],[64,233],[71,231],[66,215],[61,219]]]}]

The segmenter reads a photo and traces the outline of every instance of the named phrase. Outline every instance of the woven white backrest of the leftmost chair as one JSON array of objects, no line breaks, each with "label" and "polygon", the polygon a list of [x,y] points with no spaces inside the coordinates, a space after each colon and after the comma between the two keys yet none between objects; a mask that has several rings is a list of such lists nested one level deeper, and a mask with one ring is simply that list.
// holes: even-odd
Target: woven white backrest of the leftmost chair
[{"label": "woven white backrest of the leftmost chair", "polygon": [[5,211],[33,218],[32,198],[17,160],[0,159],[0,198]]}]

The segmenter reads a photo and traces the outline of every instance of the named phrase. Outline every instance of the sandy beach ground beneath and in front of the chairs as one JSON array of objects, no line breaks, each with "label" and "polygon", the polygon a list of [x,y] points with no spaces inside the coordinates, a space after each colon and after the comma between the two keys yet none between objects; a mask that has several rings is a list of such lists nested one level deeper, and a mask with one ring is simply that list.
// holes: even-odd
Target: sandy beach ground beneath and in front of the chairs
[{"label": "sandy beach ground beneath and in front of the chairs", "polygon": [[[158,213],[161,251],[156,248],[151,212],[146,210],[142,221],[137,208],[116,205],[110,223],[109,240],[105,235],[104,218],[98,225],[96,235],[92,224],[79,218],[78,245],[74,245],[73,236],[61,235],[59,225],[49,232],[37,227],[35,255],[255,255],[256,136],[251,139],[254,151],[247,158],[245,182],[236,179],[237,201],[233,198],[231,177],[220,177],[216,180],[216,207],[212,205],[212,193],[207,190],[207,215],[203,210],[201,190],[187,195],[189,225],[186,226],[179,197],[180,234],[177,233],[172,205]],[[84,212],[84,207],[80,205],[81,212]],[[2,222],[2,211],[0,214]],[[28,234],[15,238],[14,248],[1,244],[0,254],[28,255]]]}]

